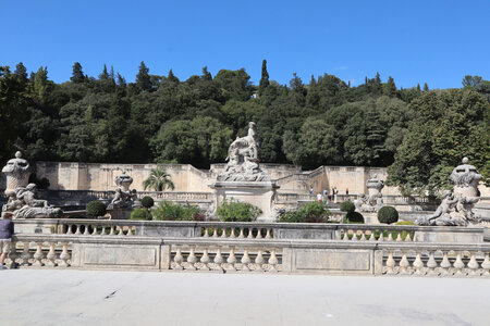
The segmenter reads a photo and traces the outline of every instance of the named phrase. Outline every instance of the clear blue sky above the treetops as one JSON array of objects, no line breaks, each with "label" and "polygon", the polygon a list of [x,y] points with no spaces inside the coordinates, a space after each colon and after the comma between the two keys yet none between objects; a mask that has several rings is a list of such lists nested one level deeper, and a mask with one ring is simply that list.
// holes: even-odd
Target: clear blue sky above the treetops
[{"label": "clear blue sky above the treetops", "polygon": [[490,1],[66,1],[0,0],[0,65],[48,66],[65,82],[78,61],[128,82],[140,61],[181,79],[207,65],[245,67],[258,84],[334,74],[354,85],[380,72],[399,87],[461,87],[490,79]]}]

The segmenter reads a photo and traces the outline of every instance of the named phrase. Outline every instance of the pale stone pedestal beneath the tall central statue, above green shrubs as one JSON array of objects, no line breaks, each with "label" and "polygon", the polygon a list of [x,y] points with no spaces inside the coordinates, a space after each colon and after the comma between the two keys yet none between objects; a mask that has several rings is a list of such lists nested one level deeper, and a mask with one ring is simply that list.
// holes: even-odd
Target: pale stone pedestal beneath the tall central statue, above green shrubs
[{"label": "pale stone pedestal beneath the tall central statue, above green shrubs", "polygon": [[[236,199],[248,202],[262,210],[259,222],[274,222],[273,201],[279,186],[271,181],[217,181],[209,186],[215,189],[218,208],[224,200]],[[216,213],[216,211],[215,211]]]}]

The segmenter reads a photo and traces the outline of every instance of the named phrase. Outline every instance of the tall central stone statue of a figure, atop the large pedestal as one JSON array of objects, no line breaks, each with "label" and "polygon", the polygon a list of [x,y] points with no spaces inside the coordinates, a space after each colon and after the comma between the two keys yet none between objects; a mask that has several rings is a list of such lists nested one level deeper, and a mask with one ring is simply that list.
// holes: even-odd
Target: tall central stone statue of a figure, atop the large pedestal
[{"label": "tall central stone statue of a figure, atop the large pedestal", "polygon": [[228,149],[228,164],[218,181],[270,181],[260,170],[258,159],[258,131],[254,122],[248,124],[248,134],[236,138]]}]

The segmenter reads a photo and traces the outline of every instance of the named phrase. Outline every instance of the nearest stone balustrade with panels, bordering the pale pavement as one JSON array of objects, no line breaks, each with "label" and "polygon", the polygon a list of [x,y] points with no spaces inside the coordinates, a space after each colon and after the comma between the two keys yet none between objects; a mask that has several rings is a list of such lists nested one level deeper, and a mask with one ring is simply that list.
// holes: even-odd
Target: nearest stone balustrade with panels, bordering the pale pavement
[{"label": "nearest stone balustrade with panels, bordering the pale pavement", "polygon": [[490,276],[489,243],[15,235],[10,267]]}]

